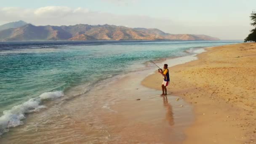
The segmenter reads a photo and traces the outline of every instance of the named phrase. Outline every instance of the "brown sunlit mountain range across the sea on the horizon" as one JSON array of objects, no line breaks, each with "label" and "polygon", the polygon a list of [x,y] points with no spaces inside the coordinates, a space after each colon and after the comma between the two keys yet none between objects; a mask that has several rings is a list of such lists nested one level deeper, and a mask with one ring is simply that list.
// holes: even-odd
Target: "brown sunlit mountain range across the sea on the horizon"
[{"label": "brown sunlit mountain range across the sea on the horizon", "polygon": [[0,40],[219,40],[207,35],[169,34],[159,29],[76,24],[35,26],[16,21],[0,26]]}]

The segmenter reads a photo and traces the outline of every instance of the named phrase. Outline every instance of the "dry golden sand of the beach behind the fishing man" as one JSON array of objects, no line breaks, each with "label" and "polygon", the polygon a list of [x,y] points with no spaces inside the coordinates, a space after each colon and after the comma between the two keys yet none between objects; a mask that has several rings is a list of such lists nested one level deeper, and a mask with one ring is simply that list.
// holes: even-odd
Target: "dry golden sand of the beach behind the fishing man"
[{"label": "dry golden sand of the beach behind the fishing man", "polygon": [[[256,144],[256,43],[207,48],[169,68],[168,92],[194,105],[184,144]],[[160,90],[156,72],[142,85]]]}]

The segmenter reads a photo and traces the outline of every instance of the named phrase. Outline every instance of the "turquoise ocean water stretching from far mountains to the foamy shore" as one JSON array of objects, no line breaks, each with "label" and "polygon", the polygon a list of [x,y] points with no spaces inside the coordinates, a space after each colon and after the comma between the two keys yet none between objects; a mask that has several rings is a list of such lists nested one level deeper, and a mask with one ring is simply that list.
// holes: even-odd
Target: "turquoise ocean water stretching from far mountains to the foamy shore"
[{"label": "turquoise ocean water stretching from far mountains to the foamy shore", "polygon": [[90,96],[86,93],[103,80],[145,69],[145,64],[152,65],[147,57],[187,56],[195,48],[242,42],[0,42],[0,135],[23,124],[30,113],[40,112],[49,101]]}]

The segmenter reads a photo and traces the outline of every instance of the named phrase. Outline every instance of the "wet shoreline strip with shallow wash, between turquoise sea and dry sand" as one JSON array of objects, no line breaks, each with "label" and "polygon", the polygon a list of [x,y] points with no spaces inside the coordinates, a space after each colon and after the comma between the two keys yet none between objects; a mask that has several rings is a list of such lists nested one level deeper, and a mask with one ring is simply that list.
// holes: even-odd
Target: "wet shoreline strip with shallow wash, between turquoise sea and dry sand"
[{"label": "wet shoreline strip with shallow wash, between turquoise sea and dry sand", "polygon": [[[12,132],[6,133],[0,143],[34,144],[40,140],[46,144],[56,141],[181,144],[184,128],[194,120],[192,106],[178,96],[163,99],[159,96],[160,91],[141,85],[141,80],[149,72],[152,72],[152,67],[119,79],[113,78],[111,83],[106,80],[101,87],[87,93],[91,96],[82,95],[72,101],[67,99],[54,105],[55,110],[51,107],[29,115],[26,125],[11,129]],[[179,103],[175,102],[178,98]],[[35,124],[45,120],[47,125]],[[33,133],[35,129],[37,132]]]}]

